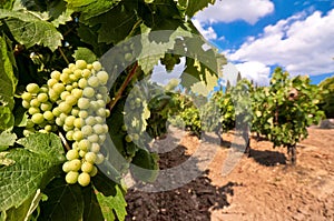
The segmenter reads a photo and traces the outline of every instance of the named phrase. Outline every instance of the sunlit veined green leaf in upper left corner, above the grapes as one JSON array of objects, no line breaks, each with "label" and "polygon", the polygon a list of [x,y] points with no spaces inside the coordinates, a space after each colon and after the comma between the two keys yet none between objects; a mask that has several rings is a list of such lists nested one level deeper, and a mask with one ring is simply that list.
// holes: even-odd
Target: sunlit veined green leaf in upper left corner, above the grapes
[{"label": "sunlit veined green leaf in upper left corner, above the grapes", "polygon": [[14,39],[27,48],[45,46],[55,51],[61,46],[62,36],[56,27],[29,11],[9,11],[0,9],[0,19],[7,19],[6,23]]}]

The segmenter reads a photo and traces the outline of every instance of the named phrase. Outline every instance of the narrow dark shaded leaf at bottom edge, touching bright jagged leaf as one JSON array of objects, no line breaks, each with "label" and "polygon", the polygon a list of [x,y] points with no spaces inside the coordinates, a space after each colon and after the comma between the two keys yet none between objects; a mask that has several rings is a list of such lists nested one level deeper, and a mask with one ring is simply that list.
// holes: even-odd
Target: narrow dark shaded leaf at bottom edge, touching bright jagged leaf
[{"label": "narrow dark shaded leaf at bottom edge, touching bright jagged leaf", "polygon": [[82,193],[85,202],[84,220],[104,221],[104,214],[94,188],[89,185],[84,189]]}]

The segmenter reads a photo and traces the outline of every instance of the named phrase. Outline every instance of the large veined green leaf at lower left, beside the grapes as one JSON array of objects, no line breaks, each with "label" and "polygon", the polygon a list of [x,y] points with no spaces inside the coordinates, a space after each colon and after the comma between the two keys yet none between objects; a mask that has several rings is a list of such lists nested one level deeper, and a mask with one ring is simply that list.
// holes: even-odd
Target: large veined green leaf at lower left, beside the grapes
[{"label": "large veined green leaf at lower left, beside the grapes", "polygon": [[13,164],[0,168],[0,211],[19,207],[37,189],[46,187],[65,161],[59,138],[36,133],[17,141],[27,148],[16,148],[6,154]]}]

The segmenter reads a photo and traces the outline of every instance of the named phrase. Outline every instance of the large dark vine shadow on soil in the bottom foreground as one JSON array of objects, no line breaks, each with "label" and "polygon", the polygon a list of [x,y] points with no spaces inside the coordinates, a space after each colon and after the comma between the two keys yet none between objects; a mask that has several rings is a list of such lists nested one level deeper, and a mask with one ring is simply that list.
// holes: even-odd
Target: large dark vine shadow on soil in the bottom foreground
[{"label": "large dark vine shadow on soil in the bottom foreground", "polygon": [[[176,167],[185,162],[189,155],[186,148],[178,145],[174,150],[159,154],[160,170]],[[197,161],[198,162],[198,161]],[[191,164],[187,173],[199,172],[196,162]],[[130,189],[126,195],[128,202],[126,218],[145,221],[185,221],[210,220],[210,210],[228,207],[227,195],[233,195],[233,187],[237,183],[229,182],[222,188],[212,184],[206,177],[208,171],[200,172],[191,182],[177,189],[163,192],[140,192],[136,188]],[[176,182],[181,178],[173,178]],[[173,181],[171,181],[173,182]]]}]

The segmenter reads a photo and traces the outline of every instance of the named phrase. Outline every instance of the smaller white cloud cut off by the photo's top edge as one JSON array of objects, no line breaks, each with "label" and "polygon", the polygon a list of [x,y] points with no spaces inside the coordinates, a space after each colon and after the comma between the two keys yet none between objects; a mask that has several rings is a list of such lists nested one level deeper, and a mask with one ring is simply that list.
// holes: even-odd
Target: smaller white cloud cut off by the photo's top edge
[{"label": "smaller white cloud cut off by the photo's top edge", "polygon": [[274,11],[274,3],[269,0],[218,0],[195,18],[200,23],[232,22],[244,20],[250,24]]}]

